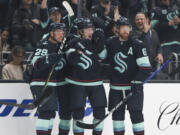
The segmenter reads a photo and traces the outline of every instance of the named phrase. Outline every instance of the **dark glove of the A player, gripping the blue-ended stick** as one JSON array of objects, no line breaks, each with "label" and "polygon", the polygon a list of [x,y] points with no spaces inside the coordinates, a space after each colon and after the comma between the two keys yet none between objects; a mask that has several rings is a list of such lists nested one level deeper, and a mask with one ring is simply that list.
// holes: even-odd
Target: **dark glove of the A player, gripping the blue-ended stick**
[{"label": "dark glove of the A player, gripping the blue-ended stick", "polygon": [[131,81],[131,91],[133,95],[138,95],[143,90],[142,81]]}]

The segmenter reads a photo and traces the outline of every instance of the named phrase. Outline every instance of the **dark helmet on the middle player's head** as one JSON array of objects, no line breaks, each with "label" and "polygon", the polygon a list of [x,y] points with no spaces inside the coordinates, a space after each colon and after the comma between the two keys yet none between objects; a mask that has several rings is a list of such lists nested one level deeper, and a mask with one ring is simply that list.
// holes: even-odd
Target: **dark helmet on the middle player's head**
[{"label": "dark helmet on the middle player's head", "polygon": [[92,21],[89,18],[80,18],[77,21],[78,30],[94,27]]}]

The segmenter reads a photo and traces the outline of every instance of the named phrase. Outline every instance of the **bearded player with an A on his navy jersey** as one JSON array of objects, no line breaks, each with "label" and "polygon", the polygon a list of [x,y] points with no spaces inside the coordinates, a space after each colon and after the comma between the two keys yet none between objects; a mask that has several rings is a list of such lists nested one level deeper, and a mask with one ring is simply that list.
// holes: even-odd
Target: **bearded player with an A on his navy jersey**
[{"label": "bearded player with an A on his navy jersey", "polygon": [[134,135],[144,135],[143,81],[151,71],[145,45],[129,37],[130,24],[127,18],[117,21],[119,36],[107,43],[108,61],[111,65],[108,109],[111,110],[130,92],[133,96],[112,115],[114,135],[124,135],[125,108],[130,113]]}]

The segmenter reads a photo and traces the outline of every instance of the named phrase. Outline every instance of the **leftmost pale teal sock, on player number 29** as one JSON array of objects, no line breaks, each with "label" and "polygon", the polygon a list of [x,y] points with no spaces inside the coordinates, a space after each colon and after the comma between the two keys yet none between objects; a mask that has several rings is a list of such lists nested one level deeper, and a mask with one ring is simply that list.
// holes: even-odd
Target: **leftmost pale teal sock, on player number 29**
[{"label": "leftmost pale teal sock, on player number 29", "polygon": [[36,123],[36,133],[37,135],[50,135],[49,132],[49,120],[38,119]]}]

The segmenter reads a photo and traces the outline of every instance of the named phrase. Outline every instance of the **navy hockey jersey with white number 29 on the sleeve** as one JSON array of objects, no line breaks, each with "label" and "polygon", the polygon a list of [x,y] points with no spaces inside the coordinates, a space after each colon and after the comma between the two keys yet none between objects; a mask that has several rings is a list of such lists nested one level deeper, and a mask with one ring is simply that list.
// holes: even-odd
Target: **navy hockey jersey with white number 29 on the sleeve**
[{"label": "navy hockey jersey with white number 29 on the sleeve", "polygon": [[30,83],[31,86],[44,85],[54,64],[56,66],[48,85],[59,86],[67,84],[64,81],[66,60],[62,52],[57,54],[59,48],[58,44],[53,44],[48,39],[38,43],[32,59],[33,77]]}]

